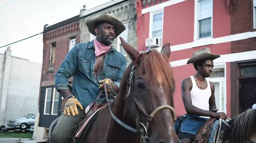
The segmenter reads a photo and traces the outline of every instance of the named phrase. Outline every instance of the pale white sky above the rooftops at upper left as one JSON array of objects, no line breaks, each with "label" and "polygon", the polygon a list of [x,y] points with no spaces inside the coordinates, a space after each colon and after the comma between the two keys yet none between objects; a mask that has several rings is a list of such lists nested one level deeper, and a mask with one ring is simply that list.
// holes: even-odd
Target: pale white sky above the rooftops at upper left
[{"label": "pale white sky above the rooftops at upper left", "polygon": [[[0,0],[0,47],[43,32],[53,25],[79,15],[83,5],[92,9],[110,0]],[[43,34],[11,46],[12,56],[42,63]],[[8,46],[0,48],[4,54]]]}]

